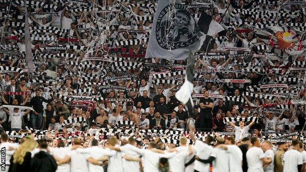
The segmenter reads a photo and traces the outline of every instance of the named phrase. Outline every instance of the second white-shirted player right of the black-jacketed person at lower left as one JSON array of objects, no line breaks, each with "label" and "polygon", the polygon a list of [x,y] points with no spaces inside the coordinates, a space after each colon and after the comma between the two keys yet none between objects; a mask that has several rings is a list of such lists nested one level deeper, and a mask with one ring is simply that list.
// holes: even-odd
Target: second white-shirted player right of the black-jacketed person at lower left
[{"label": "second white-shirted player right of the black-jacketed person at lower left", "polygon": [[81,140],[76,138],[74,139],[74,146],[71,147],[71,150],[68,151],[64,159],[60,159],[57,163],[58,166],[70,162],[71,172],[89,172],[87,158],[88,154],[79,153],[76,149],[82,148]]}]

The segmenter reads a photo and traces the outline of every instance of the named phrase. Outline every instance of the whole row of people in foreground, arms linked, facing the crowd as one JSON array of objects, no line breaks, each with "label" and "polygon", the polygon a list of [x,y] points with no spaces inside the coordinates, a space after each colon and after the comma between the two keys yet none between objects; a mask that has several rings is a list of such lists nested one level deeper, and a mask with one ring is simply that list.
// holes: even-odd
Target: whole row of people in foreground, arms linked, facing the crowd
[{"label": "whole row of people in foreground, arms linked, facing the crowd", "polygon": [[75,138],[65,147],[62,140],[50,143],[34,134],[20,139],[18,145],[8,142],[2,132],[0,147],[8,150],[6,172],[305,172],[306,151],[297,138],[275,146],[257,137],[245,137],[239,144],[234,137],[208,135],[198,140],[192,131],[189,137],[193,145],[181,136],[177,147],[159,137],[141,137],[143,144],[139,144],[133,136],[120,140],[118,135],[87,140],[87,144]]}]

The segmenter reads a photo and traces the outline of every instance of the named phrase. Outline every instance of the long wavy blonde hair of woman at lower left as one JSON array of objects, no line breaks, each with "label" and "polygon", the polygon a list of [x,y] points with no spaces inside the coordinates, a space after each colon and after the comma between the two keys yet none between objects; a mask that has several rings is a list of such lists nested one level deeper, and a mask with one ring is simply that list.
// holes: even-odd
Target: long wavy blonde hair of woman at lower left
[{"label": "long wavy blonde hair of woman at lower left", "polygon": [[26,156],[26,152],[33,150],[38,146],[38,143],[33,139],[27,139],[24,143],[22,143],[16,150],[13,155],[14,163],[19,163],[20,165],[24,163],[24,158]]}]

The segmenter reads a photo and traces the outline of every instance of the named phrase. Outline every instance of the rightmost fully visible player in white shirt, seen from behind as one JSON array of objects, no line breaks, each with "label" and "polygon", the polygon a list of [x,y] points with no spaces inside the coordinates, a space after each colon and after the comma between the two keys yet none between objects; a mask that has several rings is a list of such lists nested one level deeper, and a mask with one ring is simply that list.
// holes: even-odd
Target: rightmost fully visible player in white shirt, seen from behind
[{"label": "rightmost fully visible player in white shirt, seen from behind", "polygon": [[287,150],[283,156],[284,172],[301,172],[303,164],[303,154],[300,152],[300,149],[300,141],[297,139],[292,140],[291,149]]}]

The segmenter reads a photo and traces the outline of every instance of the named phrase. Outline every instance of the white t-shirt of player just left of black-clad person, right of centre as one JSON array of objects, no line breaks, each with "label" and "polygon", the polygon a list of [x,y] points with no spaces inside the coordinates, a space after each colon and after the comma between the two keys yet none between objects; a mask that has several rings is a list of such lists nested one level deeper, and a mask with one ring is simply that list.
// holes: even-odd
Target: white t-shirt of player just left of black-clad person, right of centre
[{"label": "white t-shirt of player just left of black-clad person, right of centre", "polygon": [[228,145],[230,172],[242,172],[242,151],[236,145]]}]

